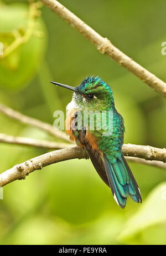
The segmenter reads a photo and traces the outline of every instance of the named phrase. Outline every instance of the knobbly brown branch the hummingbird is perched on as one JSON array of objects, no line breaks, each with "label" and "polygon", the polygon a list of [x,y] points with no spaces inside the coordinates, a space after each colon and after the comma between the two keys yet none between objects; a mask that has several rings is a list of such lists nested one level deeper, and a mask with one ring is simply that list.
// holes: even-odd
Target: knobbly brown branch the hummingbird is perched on
[{"label": "knobbly brown branch the hummingbird is perched on", "polygon": [[[141,154],[144,159],[160,159],[163,162],[165,162],[166,160],[165,149],[157,150],[157,148],[133,144],[125,144],[122,149],[124,149],[123,153],[125,155],[133,155],[134,149],[134,155],[139,156]],[[88,158],[88,155],[81,147],[64,148],[43,155],[39,155],[38,157],[27,160],[24,163],[14,165],[14,167],[12,167],[11,169],[1,173],[0,186],[3,187],[4,185],[11,183],[17,179],[25,179],[26,175],[29,175],[29,173],[33,172],[34,170],[42,169],[47,165],[75,158]]]}]

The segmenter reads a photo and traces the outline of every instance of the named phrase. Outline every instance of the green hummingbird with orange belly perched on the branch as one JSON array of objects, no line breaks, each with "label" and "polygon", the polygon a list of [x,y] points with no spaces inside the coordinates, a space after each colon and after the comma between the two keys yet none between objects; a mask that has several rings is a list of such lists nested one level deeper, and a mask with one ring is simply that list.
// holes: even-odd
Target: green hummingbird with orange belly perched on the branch
[{"label": "green hummingbird with orange belly perched on the branch", "polygon": [[[86,77],[77,87],[51,83],[74,92],[72,101],[66,107],[66,124],[70,124],[70,129],[66,130],[66,133],[77,145],[87,150],[98,175],[111,188],[116,203],[124,209],[128,196],[134,202],[142,203],[138,184],[122,152],[125,126],[123,117],[115,108],[110,86],[98,76]],[[78,113],[84,116],[86,111],[96,110],[106,113],[111,111],[112,133],[103,135],[106,128],[102,127],[91,129],[89,121],[86,126],[85,124],[81,127],[74,126],[78,121]],[[107,119],[106,114],[106,121]]]}]

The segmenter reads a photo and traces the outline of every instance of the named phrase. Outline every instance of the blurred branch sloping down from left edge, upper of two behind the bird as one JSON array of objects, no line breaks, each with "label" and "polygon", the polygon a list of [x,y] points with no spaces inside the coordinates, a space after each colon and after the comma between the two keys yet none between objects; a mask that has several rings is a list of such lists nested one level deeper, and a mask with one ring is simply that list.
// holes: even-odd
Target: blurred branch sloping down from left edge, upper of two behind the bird
[{"label": "blurred branch sloping down from left edge, upper of two behind the bird", "polygon": [[54,127],[50,124],[39,121],[38,119],[35,119],[33,117],[25,116],[24,114],[5,106],[2,103],[0,103],[0,112],[5,114],[7,117],[15,119],[19,122],[45,130],[45,132],[53,135],[54,137],[66,140],[67,142],[70,141],[68,136],[64,132],[61,132],[61,130],[55,130]]}]

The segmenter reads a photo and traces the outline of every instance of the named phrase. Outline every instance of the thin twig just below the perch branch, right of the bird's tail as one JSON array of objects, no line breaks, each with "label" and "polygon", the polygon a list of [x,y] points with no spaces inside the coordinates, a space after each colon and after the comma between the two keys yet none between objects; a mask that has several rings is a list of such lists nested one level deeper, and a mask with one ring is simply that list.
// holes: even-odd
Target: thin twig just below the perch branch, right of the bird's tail
[{"label": "thin twig just below the perch branch, right of the bird's tail", "polygon": [[151,165],[154,167],[158,167],[161,169],[166,169],[166,163],[163,163],[161,161],[155,161],[155,160],[145,160],[142,158],[138,158],[138,157],[125,157],[126,160],[131,161],[131,162],[136,162],[139,164],[146,164],[146,165]]}]

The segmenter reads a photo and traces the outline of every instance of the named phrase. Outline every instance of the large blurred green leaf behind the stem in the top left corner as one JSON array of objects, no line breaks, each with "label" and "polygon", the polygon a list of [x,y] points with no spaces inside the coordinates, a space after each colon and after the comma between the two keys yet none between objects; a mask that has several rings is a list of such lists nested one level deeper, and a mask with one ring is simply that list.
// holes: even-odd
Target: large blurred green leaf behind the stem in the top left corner
[{"label": "large blurred green leaf behind the stem in the top left corner", "polygon": [[[3,5],[0,8],[0,42],[4,49],[14,42],[12,33],[21,35],[27,29],[29,8],[25,4]],[[40,33],[38,33],[40,32]],[[40,36],[39,36],[40,34]],[[46,43],[45,24],[41,17],[34,21],[34,34],[12,54],[0,59],[0,88],[19,90],[27,86],[43,61]]]}]

